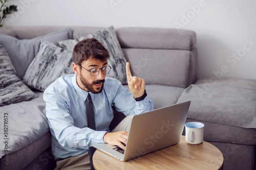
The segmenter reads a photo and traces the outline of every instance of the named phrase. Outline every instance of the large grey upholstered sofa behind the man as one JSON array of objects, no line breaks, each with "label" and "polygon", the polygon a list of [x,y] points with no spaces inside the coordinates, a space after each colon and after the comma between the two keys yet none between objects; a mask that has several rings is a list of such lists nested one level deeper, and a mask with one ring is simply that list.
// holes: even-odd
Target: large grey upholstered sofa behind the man
[{"label": "large grey upholstered sofa behind the man", "polygon": [[[64,28],[72,29],[73,39],[102,29],[3,27],[0,28],[0,34],[31,39]],[[256,145],[256,81],[216,77],[198,80],[196,33],[193,31],[118,28],[116,34],[124,56],[131,64],[133,75],[145,79],[147,94],[154,102],[155,109],[190,100],[186,122],[198,121],[205,124],[204,140],[214,144],[222,152],[223,169],[253,169]],[[1,114],[10,110],[10,107],[24,110],[22,114],[8,112],[9,169],[52,169],[55,166],[42,92],[33,91],[38,95],[35,99],[0,107]],[[34,115],[34,111],[40,114]],[[116,112],[114,119],[122,117],[121,113]],[[1,124],[2,122],[1,117]],[[41,131],[35,134],[31,129],[38,125]],[[27,136],[22,135],[23,133]],[[3,142],[0,144],[0,169],[7,169],[2,145]]]}]

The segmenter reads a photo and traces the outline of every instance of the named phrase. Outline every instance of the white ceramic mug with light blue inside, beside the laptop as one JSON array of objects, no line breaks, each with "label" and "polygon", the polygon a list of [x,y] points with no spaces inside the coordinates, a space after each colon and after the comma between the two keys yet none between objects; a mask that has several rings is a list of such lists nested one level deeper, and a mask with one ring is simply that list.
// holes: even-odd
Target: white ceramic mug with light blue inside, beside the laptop
[{"label": "white ceramic mug with light blue inside, beside the laptop", "polygon": [[186,142],[199,144],[204,139],[204,124],[200,122],[189,122],[185,124]]}]

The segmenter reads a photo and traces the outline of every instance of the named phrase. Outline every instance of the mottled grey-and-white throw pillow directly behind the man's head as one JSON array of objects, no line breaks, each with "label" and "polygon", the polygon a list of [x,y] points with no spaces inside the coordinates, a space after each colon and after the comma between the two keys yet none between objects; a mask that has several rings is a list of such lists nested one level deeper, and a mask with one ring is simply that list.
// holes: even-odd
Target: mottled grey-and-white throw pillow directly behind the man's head
[{"label": "mottled grey-and-white throw pillow directly behind the man's head", "polygon": [[74,46],[79,41],[86,38],[93,38],[93,37],[99,40],[110,54],[108,64],[112,67],[112,70],[108,75],[106,75],[106,77],[116,78],[122,84],[127,84],[126,72],[125,72],[125,66],[127,61],[124,57],[122,48],[119,44],[115,29],[113,26],[109,28],[104,28],[94,34],[89,34],[85,37],[58,41],[58,45],[62,48],[67,49],[70,52],[73,52]]}]

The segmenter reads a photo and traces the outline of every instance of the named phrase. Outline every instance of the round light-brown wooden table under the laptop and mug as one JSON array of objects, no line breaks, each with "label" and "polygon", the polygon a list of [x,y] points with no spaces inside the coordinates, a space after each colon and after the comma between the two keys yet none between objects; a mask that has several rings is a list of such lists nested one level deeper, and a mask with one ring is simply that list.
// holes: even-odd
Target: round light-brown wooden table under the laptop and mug
[{"label": "round light-brown wooden table under the laptop and mug", "polygon": [[189,144],[185,136],[178,144],[122,162],[97,150],[93,155],[97,170],[113,169],[222,169],[223,155],[214,145],[203,141]]}]

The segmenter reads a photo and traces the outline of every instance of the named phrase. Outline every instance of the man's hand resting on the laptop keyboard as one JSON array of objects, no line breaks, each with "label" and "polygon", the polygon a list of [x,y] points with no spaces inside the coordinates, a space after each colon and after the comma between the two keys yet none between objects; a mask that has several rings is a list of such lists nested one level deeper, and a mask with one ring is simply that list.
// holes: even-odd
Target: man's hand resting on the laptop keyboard
[{"label": "man's hand resting on the laptop keyboard", "polygon": [[125,131],[111,132],[111,133],[107,132],[103,136],[103,141],[111,145],[118,145],[118,147],[125,150],[125,147],[121,142],[126,144],[127,138],[128,138],[128,132],[125,132]]}]

